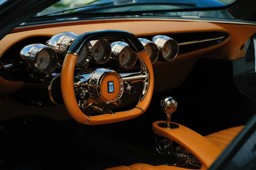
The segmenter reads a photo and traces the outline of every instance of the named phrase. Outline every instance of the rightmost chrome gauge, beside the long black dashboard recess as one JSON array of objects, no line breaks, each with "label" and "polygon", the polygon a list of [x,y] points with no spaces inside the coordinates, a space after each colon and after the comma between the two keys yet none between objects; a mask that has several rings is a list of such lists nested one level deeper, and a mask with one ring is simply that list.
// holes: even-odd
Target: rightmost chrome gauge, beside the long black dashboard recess
[{"label": "rightmost chrome gauge, beside the long black dashboard recess", "polygon": [[174,39],[165,35],[156,35],[153,37],[153,42],[160,49],[160,60],[172,61],[175,57],[177,57],[179,45]]}]

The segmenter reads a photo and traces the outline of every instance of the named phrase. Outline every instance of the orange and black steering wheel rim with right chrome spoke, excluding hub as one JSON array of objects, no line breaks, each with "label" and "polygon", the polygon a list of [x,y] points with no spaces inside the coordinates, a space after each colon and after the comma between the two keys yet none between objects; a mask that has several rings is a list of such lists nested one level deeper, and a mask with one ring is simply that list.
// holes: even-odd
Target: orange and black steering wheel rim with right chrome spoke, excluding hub
[{"label": "orange and black steering wheel rim with right chrome spoke, excluding hub", "polygon": [[[116,112],[114,114],[103,114],[98,116],[87,116],[85,115],[79,108],[77,104],[77,98],[74,91],[74,70],[77,62],[77,57],[81,53],[82,48],[86,43],[91,40],[97,39],[122,39],[131,47],[131,49],[136,53],[138,61],[141,65],[141,72],[139,73],[128,73],[120,76],[113,70],[110,70],[111,73],[115,75],[119,75],[118,78],[121,77],[120,82],[133,83],[138,80],[143,83],[143,91],[140,97],[140,100],[135,108],[123,111]],[[104,72],[105,73],[105,72]],[[102,74],[102,76],[104,75]],[[90,78],[92,79],[92,78]],[[98,87],[100,86],[100,79],[98,79]],[[90,87],[89,93],[90,93]],[[106,124],[113,123],[123,120],[132,119],[138,117],[143,114],[147,107],[150,104],[154,87],[154,77],[153,77],[153,68],[150,61],[150,58],[145,51],[144,46],[141,44],[140,40],[130,32],[126,31],[117,31],[117,30],[104,30],[104,31],[95,31],[84,33],[77,37],[71,44],[68,52],[65,56],[62,70],[61,70],[61,92],[63,96],[63,100],[65,106],[70,113],[70,115],[80,123],[88,124],[88,125],[96,125],[96,124]],[[120,92],[122,89],[122,83],[120,84]],[[123,92],[123,91],[122,91]],[[96,95],[99,94],[100,91],[97,91]],[[91,97],[92,94],[90,93]],[[119,93],[119,97],[122,94]],[[93,104],[97,104],[97,102],[93,101]],[[92,104],[91,103],[91,104]],[[110,104],[111,102],[103,103],[104,105]],[[102,103],[101,103],[102,105]]]}]

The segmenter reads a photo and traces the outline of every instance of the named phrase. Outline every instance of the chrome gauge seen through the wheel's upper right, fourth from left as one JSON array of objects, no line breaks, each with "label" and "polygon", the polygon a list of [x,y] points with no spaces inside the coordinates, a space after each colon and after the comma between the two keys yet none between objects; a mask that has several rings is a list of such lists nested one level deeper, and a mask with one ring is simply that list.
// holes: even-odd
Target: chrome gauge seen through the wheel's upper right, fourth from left
[{"label": "chrome gauge seen through the wheel's upper right, fourth from left", "polygon": [[111,43],[112,61],[121,68],[129,69],[136,64],[137,56],[125,42]]}]

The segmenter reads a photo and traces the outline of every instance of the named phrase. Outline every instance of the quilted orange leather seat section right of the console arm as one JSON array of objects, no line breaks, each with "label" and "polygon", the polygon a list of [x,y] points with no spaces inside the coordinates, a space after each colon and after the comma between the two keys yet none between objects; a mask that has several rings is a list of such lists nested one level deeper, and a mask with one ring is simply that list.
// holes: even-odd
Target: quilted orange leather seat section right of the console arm
[{"label": "quilted orange leather seat section right of the console arm", "polygon": [[225,149],[244,127],[245,126],[232,127],[205,137],[221,149]]}]

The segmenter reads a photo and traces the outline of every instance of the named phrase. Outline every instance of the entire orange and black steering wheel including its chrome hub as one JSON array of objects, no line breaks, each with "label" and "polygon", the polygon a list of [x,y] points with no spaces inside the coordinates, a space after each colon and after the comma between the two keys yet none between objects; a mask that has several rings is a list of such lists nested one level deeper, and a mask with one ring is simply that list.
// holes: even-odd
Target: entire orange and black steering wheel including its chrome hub
[{"label": "entire orange and black steering wheel including its chrome hub", "polygon": [[[137,60],[140,63],[140,72],[118,74],[108,68],[99,68],[87,74],[87,78],[82,77],[82,83],[74,83],[77,57],[89,41],[97,39],[124,40],[136,53]],[[138,81],[142,82],[142,93],[136,107],[128,111],[116,113],[111,112],[106,107],[109,104],[117,103],[124,93],[124,88]],[[109,82],[111,82],[111,85],[113,83],[113,92],[110,92],[108,89]],[[79,86],[82,89],[81,94],[77,95],[75,93],[75,86]],[[140,40],[127,31],[103,30],[79,35],[68,49],[62,65],[61,93],[63,101],[69,114],[83,124],[106,124],[138,117],[148,108],[153,94],[153,87],[154,77],[150,58]],[[87,97],[84,97],[85,94]],[[77,104],[79,96],[79,100],[83,100],[86,106],[94,106],[94,108],[101,110],[104,114],[98,116],[85,115]],[[84,107],[86,108],[86,106]]]}]

